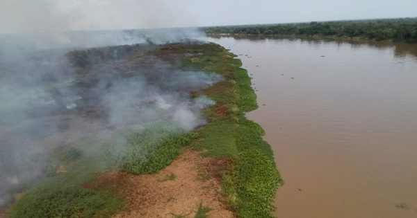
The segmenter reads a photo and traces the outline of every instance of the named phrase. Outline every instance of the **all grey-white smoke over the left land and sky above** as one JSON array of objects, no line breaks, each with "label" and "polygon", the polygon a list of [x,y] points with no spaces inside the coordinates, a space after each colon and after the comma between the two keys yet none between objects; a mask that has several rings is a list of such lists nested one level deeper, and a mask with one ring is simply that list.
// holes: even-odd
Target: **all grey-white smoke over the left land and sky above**
[{"label": "all grey-white smoke over the left land and sky above", "polygon": [[[51,158],[58,149],[133,131],[140,137],[149,134],[139,142],[153,141],[138,146],[136,152],[145,157],[164,138],[206,123],[200,110],[215,102],[190,93],[222,78],[181,71],[177,60],[143,55],[155,44],[200,36],[194,28],[154,29],[184,20],[193,25],[187,13],[173,11],[169,4],[0,1],[0,208],[57,167]],[[98,46],[114,47],[91,49]],[[85,150],[97,149],[88,146]],[[124,156],[129,143],[117,140],[106,150]],[[98,158],[101,153],[89,155],[108,161]],[[97,163],[103,164],[108,163]]]}]

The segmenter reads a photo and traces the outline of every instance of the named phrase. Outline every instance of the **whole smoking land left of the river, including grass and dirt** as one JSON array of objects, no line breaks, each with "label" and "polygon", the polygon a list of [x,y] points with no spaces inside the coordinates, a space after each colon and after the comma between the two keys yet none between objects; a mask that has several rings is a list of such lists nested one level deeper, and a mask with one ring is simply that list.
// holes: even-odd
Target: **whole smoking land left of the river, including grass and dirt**
[{"label": "whole smoking land left of the river, including grass and dirt", "polygon": [[193,40],[1,62],[4,215],[270,216],[280,179],[240,65]]}]

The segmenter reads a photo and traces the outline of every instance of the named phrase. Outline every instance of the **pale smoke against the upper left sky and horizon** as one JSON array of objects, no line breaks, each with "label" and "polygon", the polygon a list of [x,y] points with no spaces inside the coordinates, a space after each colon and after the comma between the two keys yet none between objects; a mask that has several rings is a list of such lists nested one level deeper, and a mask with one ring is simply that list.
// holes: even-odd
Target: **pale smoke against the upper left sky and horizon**
[{"label": "pale smoke against the upper left sky and horizon", "polygon": [[0,46],[0,57],[49,48],[164,44],[202,36],[191,28],[197,24],[183,8],[167,0],[2,0],[0,40],[7,43]]}]

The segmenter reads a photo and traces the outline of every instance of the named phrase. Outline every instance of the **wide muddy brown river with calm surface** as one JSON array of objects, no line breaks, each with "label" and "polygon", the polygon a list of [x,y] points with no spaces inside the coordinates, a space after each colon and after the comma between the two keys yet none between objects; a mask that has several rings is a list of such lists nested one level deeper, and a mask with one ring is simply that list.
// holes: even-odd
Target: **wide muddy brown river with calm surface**
[{"label": "wide muddy brown river with calm surface", "polygon": [[253,78],[277,217],[417,217],[417,45],[208,40]]}]

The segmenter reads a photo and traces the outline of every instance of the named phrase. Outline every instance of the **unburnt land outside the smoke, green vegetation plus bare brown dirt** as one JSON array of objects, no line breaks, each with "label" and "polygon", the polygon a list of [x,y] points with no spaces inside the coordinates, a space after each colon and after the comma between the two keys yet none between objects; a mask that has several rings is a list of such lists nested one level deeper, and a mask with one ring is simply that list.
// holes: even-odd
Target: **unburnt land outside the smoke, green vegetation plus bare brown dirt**
[{"label": "unburnt land outside the smoke, green vegetation plus bare brown dirt", "polygon": [[281,178],[263,129],[245,118],[258,105],[236,55],[197,42],[73,51],[67,57],[78,68],[77,85],[87,89],[95,64],[120,51],[125,55],[116,55],[115,63],[125,78],[152,74],[161,64],[152,63],[156,59],[173,69],[221,75],[224,80],[190,93],[215,101],[202,109],[206,125],[169,131],[161,119],[145,131],[130,129],[111,139],[128,143],[126,154],[99,167],[95,159],[112,157],[106,148],[113,143],[90,139],[58,149],[45,178],[16,197],[8,217],[272,217]]}]

